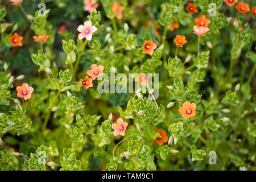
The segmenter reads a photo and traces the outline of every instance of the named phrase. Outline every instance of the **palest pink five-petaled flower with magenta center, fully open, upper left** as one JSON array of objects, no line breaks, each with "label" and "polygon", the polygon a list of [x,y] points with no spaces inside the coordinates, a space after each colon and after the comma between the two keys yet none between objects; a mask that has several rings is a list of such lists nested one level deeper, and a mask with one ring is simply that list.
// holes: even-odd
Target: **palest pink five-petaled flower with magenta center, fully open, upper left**
[{"label": "palest pink five-petaled flower with magenta center, fully open, upper left", "polygon": [[80,32],[78,35],[79,40],[86,38],[86,40],[92,40],[92,33],[97,31],[96,26],[92,26],[92,22],[89,20],[84,22],[84,25],[80,24],[77,28],[77,31]]}]

